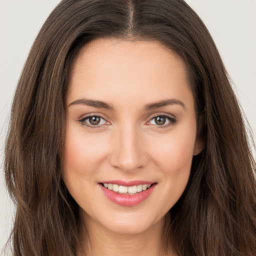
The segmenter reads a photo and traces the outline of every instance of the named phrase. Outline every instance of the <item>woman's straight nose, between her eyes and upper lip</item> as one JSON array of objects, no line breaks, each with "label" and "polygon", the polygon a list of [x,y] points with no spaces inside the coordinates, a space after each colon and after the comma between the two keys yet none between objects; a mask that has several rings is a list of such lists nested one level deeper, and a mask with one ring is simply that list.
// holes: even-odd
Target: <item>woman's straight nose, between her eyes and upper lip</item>
[{"label": "woman's straight nose, between her eyes and upper lip", "polygon": [[125,172],[137,170],[147,161],[142,134],[134,126],[119,127],[112,138],[110,164]]}]

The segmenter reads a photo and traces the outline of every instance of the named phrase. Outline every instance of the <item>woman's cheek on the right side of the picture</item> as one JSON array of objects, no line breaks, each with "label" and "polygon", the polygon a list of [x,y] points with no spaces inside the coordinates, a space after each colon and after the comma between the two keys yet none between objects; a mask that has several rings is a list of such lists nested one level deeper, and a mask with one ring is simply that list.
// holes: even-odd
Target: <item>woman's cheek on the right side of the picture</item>
[{"label": "woman's cheek on the right side of the picture", "polygon": [[154,165],[161,175],[160,187],[163,200],[157,203],[163,212],[176,203],[187,185],[193,157],[195,129],[194,126],[190,129],[179,129],[178,132],[173,131],[171,134],[166,134],[165,138],[155,138],[150,145],[154,155]]}]

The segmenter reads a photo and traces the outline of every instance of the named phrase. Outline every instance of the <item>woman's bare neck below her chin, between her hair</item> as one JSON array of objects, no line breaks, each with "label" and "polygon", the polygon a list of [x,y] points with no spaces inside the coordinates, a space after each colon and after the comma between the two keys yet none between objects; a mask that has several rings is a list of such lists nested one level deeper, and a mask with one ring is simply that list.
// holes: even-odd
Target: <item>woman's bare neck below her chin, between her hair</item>
[{"label": "woman's bare neck below her chin, between her hair", "polygon": [[[86,256],[165,256],[162,251],[164,218],[141,233],[116,233],[104,228],[98,222],[86,221],[89,241],[84,251]],[[87,239],[88,240],[88,239]],[[78,253],[78,256],[84,255]],[[168,254],[172,255],[172,254]]]}]

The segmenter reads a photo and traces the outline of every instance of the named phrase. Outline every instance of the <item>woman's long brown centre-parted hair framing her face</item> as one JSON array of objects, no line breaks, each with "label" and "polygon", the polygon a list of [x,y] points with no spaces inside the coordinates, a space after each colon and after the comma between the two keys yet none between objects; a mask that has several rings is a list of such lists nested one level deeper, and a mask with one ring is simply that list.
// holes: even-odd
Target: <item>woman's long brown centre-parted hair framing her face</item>
[{"label": "woman's long brown centre-parted hair framing her face", "polygon": [[[256,185],[244,119],[218,50],[183,0],[62,0],[39,31],[11,109],[5,179],[16,214],[14,256],[76,255],[78,205],[62,180],[73,57],[96,38],[156,40],[186,66],[202,152],[169,210],[163,248],[180,256],[256,255]],[[86,249],[85,249],[86,250]]]}]

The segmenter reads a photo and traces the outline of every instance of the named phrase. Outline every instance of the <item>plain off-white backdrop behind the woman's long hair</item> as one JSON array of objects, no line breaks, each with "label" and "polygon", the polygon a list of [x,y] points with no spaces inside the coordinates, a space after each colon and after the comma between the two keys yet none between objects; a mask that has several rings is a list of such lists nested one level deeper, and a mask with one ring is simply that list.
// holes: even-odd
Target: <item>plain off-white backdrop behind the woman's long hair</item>
[{"label": "plain off-white backdrop behind the woman's long hair", "polygon": [[[59,0],[0,0],[0,251],[13,206],[3,181],[3,147],[13,92],[29,48]],[[256,0],[187,0],[208,27],[256,134]]]}]

